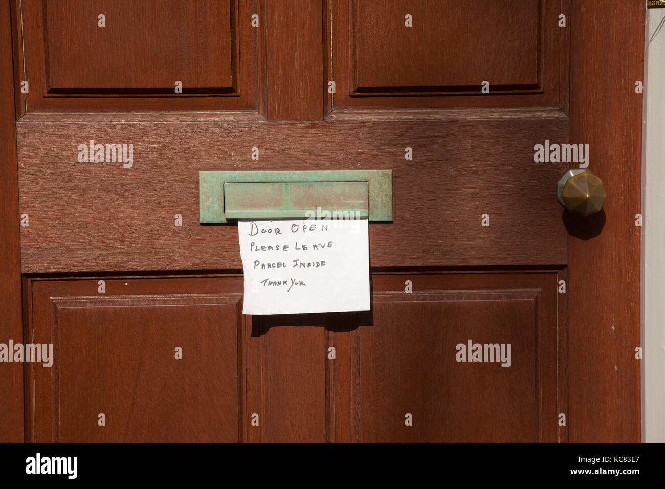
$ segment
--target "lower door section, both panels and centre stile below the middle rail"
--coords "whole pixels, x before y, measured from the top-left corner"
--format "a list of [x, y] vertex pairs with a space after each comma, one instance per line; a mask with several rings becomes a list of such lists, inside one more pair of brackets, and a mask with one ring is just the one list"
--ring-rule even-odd
[[[239, 276], [32, 281], [27, 337], [55, 355], [27, 375], [29, 439], [553, 442], [557, 276], [376, 273], [372, 313], [255, 317]], [[467, 340], [509, 367], [457, 361]]]

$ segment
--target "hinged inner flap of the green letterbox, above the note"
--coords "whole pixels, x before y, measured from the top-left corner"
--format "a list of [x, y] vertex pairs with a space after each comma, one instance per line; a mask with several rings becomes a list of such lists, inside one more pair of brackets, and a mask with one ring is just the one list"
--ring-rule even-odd
[[225, 182], [227, 219], [307, 218], [308, 211], [367, 217], [367, 182]]

